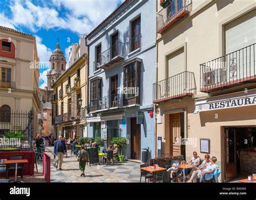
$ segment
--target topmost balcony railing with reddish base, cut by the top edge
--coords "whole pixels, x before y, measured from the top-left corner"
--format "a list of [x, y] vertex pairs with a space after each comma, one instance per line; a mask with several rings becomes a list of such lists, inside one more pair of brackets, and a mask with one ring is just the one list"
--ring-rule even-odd
[[167, 28], [176, 23], [178, 19], [190, 13], [191, 10], [192, 0], [170, 0], [170, 4], [158, 12], [158, 33], [164, 32]]

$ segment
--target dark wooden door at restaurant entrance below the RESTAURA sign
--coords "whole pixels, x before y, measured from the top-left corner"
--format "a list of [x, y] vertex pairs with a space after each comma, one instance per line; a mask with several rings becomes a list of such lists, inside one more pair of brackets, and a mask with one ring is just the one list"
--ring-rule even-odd
[[237, 177], [235, 128], [225, 128], [225, 181]]

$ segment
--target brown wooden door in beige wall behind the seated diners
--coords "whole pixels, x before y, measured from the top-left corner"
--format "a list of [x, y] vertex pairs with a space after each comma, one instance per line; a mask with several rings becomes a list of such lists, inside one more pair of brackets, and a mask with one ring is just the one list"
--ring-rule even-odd
[[180, 113], [174, 113], [170, 115], [170, 152], [173, 156], [181, 155], [181, 125], [180, 125]]

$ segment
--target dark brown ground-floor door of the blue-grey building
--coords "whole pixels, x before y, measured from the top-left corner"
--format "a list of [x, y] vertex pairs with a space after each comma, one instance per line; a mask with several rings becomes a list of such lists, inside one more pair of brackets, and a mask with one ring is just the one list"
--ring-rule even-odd
[[140, 159], [140, 124], [131, 118], [131, 158]]

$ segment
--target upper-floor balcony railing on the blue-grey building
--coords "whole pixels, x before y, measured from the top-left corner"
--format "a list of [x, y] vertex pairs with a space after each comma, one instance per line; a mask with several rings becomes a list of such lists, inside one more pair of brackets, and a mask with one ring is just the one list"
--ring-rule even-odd
[[105, 69], [113, 65], [120, 60], [123, 60], [126, 55], [125, 44], [123, 42], [117, 42], [112, 47], [102, 52], [99, 55], [99, 59], [93, 62], [95, 70], [99, 68]]

